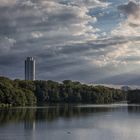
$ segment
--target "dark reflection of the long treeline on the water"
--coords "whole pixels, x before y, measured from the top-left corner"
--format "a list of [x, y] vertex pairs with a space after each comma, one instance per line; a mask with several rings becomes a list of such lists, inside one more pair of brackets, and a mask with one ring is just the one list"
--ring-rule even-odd
[[9, 122], [24, 122], [25, 127], [33, 127], [35, 121], [54, 121], [58, 118], [86, 117], [89, 113], [110, 111], [111, 108], [76, 107], [71, 104], [51, 105], [42, 108], [14, 108], [2, 109], [0, 112], [0, 125]]

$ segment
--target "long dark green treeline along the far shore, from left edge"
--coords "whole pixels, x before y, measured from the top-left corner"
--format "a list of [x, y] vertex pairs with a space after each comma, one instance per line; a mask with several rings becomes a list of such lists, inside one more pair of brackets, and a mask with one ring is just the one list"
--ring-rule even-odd
[[88, 86], [65, 80], [23, 81], [0, 77], [0, 104], [33, 105], [36, 103], [68, 102], [104, 104], [126, 100], [126, 93], [103, 86]]

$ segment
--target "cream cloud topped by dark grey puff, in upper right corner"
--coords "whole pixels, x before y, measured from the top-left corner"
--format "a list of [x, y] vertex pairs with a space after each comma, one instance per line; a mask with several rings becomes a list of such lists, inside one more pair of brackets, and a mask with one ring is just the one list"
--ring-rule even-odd
[[[118, 9], [127, 16], [118, 27], [112, 30], [114, 36], [137, 38], [140, 36], [140, 7], [135, 1], [118, 6]], [[133, 36], [132, 36], [133, 35]]]

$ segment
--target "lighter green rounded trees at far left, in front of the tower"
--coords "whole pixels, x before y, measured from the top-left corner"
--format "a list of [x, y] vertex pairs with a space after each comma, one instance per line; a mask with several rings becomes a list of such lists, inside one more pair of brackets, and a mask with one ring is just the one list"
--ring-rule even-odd
[[35, 86], [30, 81], [10, 80], [0, 77], [0, 104], [16, 106], [36, 104]]

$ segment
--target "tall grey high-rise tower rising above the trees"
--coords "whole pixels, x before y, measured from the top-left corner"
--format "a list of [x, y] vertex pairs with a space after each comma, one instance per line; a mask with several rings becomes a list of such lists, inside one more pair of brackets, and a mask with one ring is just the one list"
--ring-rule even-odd
[[25, 80], [35, 80], [35, 60], [27, 57], [25, 60]]

